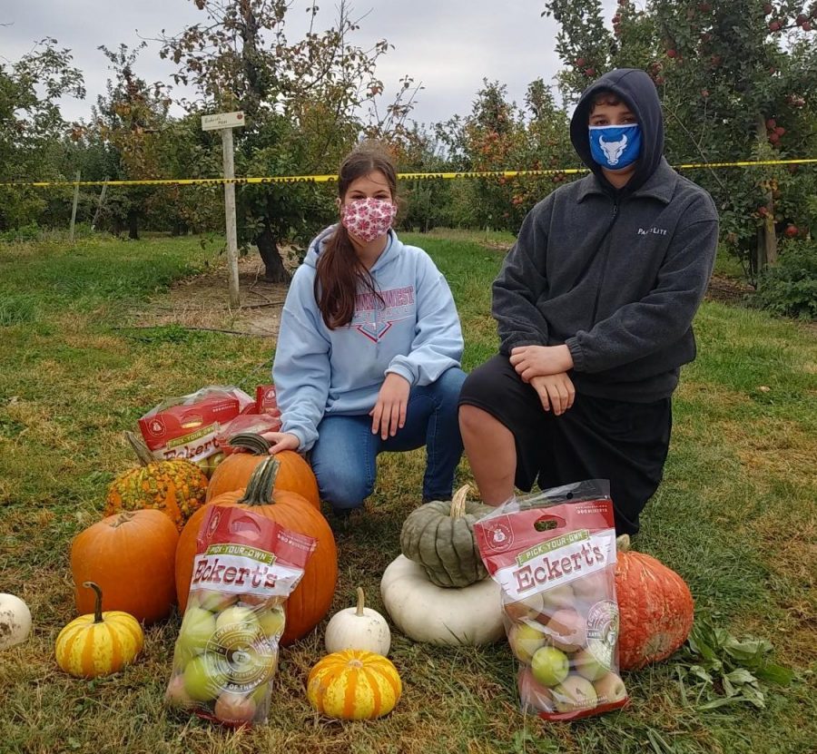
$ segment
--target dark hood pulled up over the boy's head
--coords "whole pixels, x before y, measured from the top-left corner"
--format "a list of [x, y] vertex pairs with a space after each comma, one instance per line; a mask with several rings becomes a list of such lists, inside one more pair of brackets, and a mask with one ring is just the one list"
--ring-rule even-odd
[[601, 166], [590, 154], [587, 130], [593, 99], [602, 91], [615, 93], [627, 103], [641, 126], [641, 154], [635, 163], [635, 173], [624, 189], [635, 191], [655, 172], [664, 157], [664, 114], [655, 83], [639, 68], [617, 68], [591, 83], [576, 105], [570, 121], [570, 140], [582, 162], [596, 174], [599, 181], [610, 186]]

